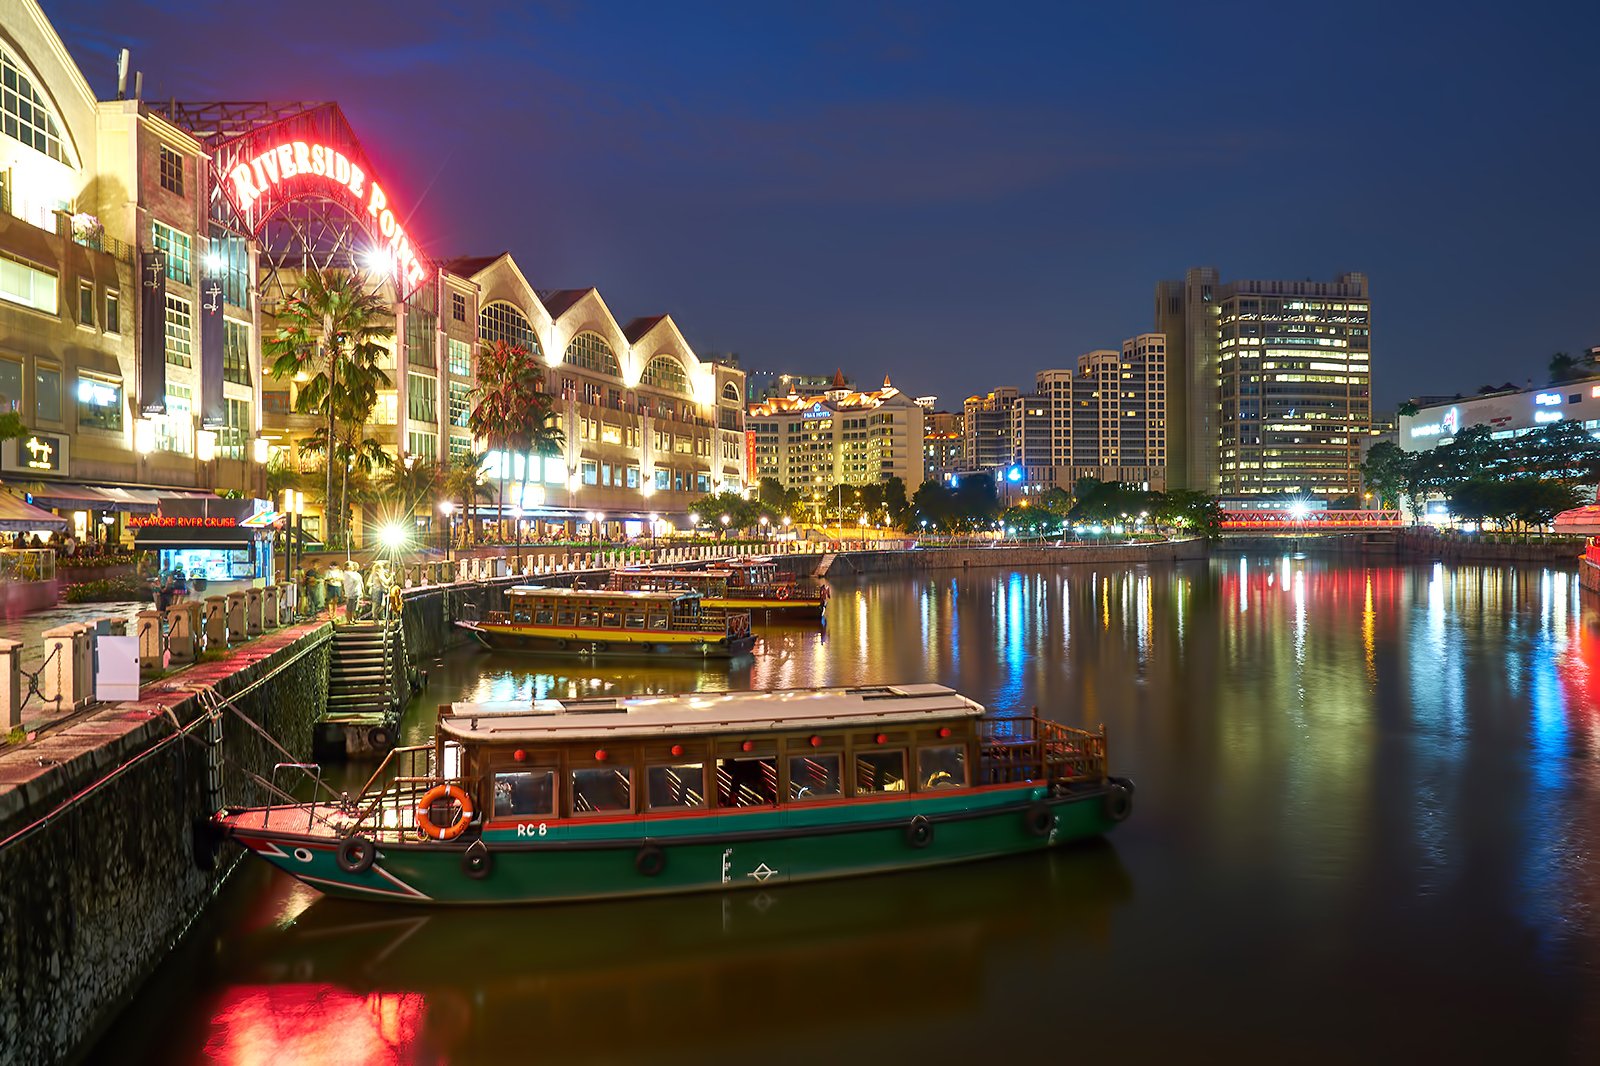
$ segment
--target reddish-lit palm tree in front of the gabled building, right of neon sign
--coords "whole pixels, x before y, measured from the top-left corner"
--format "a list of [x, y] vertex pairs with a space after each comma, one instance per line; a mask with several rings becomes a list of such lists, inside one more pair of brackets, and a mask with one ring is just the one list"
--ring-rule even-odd
[[[514, 451], [560, 455], [565, 434], [555, 426], [554, 399], [542, 389], [544, 371], [528, 349], [506, 341], [485, 344], [478, 354], [478, 384], [472, 391], [467, 429], [501, 453], [499, 525], [506, 535], [506, 475]], [[523, 483], [526, 483], [526, 461]]]

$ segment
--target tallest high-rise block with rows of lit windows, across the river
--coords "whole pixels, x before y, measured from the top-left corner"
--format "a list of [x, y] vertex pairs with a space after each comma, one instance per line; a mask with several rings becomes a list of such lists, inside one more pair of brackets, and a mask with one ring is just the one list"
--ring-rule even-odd
[[1371, 426], [1366, 275], [1222, 283], [1214, 267], [1197, 267], [1157, 283], [1155, 325], [1168, 335], [1168, 456], [1182, 487], [1360, 491]]

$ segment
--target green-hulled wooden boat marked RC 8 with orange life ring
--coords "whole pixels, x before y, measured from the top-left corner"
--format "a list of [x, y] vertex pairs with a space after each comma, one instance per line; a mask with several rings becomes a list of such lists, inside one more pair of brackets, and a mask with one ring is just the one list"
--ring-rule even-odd
[[965, 863], [1096, 837], [1131, 807], [1104, 727], [896, 685], [450, 704], [358, 795], [218, 821], [330, 895], [502, 904]]

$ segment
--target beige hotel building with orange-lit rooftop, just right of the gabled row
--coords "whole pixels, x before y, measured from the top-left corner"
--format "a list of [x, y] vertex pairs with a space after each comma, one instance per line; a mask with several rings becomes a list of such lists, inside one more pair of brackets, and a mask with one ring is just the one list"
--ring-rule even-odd
[[883, 379], [874, 392], [850, 387], [842, 373], [821, 394], [790, 392], [750, 405], [752, 479], [819, 491], [898, 477], [915, 493], [923, 477], [923, 408]]

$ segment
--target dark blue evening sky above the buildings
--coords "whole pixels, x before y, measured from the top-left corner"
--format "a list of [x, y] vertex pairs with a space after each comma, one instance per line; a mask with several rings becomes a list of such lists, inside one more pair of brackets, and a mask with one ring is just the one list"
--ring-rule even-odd
[[1150, 290], [1365, 271], [1378, 410], [1600, 344], [1595, 5], [90, 3], [91, 85], [338, 99], [437, 258], [942, 407]]

